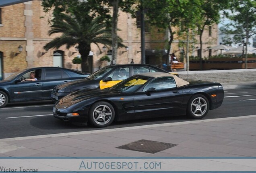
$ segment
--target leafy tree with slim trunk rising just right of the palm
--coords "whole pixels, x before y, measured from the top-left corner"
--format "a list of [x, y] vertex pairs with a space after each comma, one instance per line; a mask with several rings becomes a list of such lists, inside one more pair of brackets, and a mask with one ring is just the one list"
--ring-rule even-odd
[[88, 17], [99, 16], [101, 20], [107, 21], [108, 26], [112, 24], [112, 58], [116, 59], [118, 47], [124, 46], [119, 44], [118, 41], [118, 10], [128, 12], [134, 2], [136, 0], [43, 0], [43, 7], [45, 12], [53, 8], [54, 16], [58, 16], [61, 12], [74, 13], [78, 11], [77, 9], [80, 9], [79, 12], [86, 13]]

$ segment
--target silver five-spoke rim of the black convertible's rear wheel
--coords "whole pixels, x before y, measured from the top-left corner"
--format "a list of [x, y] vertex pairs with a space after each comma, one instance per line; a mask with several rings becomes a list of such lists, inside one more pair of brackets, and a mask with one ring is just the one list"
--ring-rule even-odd
[[190, 110], [194, 116], [201, 117], [208, 110], [208, 104], [204, 98], [196, 97], [191, 103]]

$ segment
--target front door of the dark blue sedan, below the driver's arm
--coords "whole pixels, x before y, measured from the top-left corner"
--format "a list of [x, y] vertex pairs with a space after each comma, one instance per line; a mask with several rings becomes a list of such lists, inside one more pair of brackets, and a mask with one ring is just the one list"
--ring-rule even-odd
[[15, 101], [33, 101], [42, 99], [42, 81], [21, 81], [21, 76], [29, 78], [29, 74], [35, 72], [36, 76], [41, 76], [42, 69], [29, 70], [16, 78], [11, 85], [11, 95]]

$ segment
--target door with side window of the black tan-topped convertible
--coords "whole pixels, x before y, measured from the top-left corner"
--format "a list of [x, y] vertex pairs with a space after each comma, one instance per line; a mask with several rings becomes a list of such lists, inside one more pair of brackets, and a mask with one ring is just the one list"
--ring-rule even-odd
[[[147, 92], [150, 88], [155, 91]], [[178, 115], [182, 99], [183, 91], [176, 87], [173, 77], [155, 78], [134, 95], [134, 111], [136, 117]]]

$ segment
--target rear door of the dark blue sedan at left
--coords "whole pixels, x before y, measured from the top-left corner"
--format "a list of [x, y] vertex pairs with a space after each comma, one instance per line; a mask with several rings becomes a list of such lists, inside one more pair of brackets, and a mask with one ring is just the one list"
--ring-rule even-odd
[[62, 84], [71, 80], [68, 74], [58, 68], [45, 68], [44, 73], [44, 81], [43, 81], [43, 99], [48, 100], [51, 99], [51, 92], [54, 87], [58, 84]]

